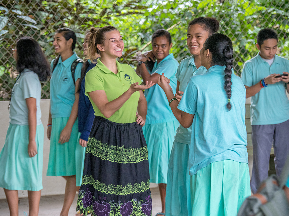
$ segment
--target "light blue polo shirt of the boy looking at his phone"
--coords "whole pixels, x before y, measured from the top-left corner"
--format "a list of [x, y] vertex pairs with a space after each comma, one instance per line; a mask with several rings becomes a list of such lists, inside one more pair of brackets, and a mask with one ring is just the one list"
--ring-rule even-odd
[[[289, 60], [275, 55], [271, 66], [260, 54], [246, 61], [241, 74], [245, 86], [253, 86], [272, 73], [289, 72]], [[286, 84], [269, 84], [251, 97], [251, 125], [279, 124], [289, 119]]]

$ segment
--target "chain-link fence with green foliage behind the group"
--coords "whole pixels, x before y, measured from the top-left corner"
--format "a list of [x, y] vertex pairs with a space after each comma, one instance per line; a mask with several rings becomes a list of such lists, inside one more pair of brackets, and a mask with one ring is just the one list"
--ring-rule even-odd
[[[188, 22], [212, 16], [220, 22], [219, 32], [234, 44], [234, 71], [240, 75], [246, 60], [257, 54], [258, 31], [273, 28], [279, 36], [279, 54], [288, 58], [288, 0], [1, 0], [0, 3], [0, 101], [8, 100], [15, 82], [11, 49], [21, 36], [33, 37], [51, 61], [55, 30], [69, 27], [77, 33], [76, 53], [83, 57], [83, 38], [91, 26], [116, 26], [125, 42], [120, 61], [136, 66], [139, 51], [151, 49], [151, 35], [168, 29], [171, 53], [180, 62], [190, 56], [186, 45]], [[42, 83], [42, 98], [49, 98], [49, 81]]]

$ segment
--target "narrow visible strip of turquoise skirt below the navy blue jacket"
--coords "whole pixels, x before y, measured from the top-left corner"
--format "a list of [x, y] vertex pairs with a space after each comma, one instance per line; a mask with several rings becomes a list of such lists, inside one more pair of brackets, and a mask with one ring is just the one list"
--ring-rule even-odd
[[76, 186], [78, 187], [81, 186], [81, 182], [82, 182], [84, 156], [85, 156], [85, 150], [86, 150], [86, 147], [82, 147], [81, 145], [79, 145], [80, 135], [81, 133], [78, 133], [78, 138], [77, 138], [78, 145], [76, 145], [76, 151], [75, 151]]

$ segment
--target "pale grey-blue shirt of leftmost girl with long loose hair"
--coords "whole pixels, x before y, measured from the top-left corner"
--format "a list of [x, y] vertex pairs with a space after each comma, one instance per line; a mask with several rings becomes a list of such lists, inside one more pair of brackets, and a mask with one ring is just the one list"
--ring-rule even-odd
[[33, 71], [24, 69], [17, 77], [12, 88], [9, 118], [10, 124], [28, 125], [28, 108], [25, 99], [36, 98], [37, 125], [41, 124], [41, 84], [38, 75]]

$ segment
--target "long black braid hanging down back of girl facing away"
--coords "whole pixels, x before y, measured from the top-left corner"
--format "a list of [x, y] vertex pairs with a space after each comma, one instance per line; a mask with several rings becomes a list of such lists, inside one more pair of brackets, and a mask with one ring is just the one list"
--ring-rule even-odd
[[228, 103], [227, 103], [227, 109], [230, 110], [231, 109], [231, 85], [232, 85], [232, 81], [231, 81], [231, 75], [232, 75], [232, 69], [233, 69], [233, 48], [229, 45], [227, 45], [223, 51], [223, 54], [226, 58], [226, 68], [224, 70], [225, 72], [225, 85], [224, 85], [224, 89], [226, 91], [227, 94], [227, 98], [228, 98]]

